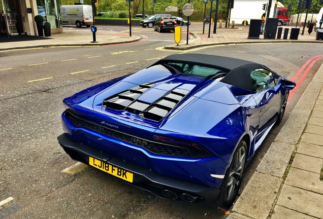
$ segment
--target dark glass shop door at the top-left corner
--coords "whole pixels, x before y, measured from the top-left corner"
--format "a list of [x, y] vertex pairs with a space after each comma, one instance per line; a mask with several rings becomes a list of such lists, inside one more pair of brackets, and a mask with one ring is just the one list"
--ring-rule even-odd
[[4, 0], [8, 35], [24, 34], [20, 0]]

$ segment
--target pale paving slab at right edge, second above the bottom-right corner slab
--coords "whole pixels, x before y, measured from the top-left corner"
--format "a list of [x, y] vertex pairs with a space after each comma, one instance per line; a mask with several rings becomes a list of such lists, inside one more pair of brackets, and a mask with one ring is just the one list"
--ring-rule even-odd
[[322, 163], [323, 159], [296, 154], [292, 163], [292, 167], [319, 174], [321, 172]]

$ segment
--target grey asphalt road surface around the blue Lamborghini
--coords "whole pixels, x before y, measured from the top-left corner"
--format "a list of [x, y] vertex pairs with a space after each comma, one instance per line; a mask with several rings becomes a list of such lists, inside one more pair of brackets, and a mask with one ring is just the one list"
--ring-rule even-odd
[[[64, 110], [61, 103], [64, 97], [179, 53], [163, 49], [173, 44], [168, 33], [144, 29], [151, 33], [132, 44], [0, 53], [0, 202], [13, 197], [0, 209], [0, 218], [7, 214], [5, 218], [226, 217], [211, 204], [160, 199], [93, 168], [75, 167], [76, 162], [57, 142], [56, 137], [62, 133], [60, 114]], [[321, 51], [323, 46], [319, 44], [285, 43], [212, 46], [187, 52], [260, 62], [291, 79], [306, 61], [321, 55]], [[309, 69], [287, 105], [284, 120], [321, 63], [318, 60]], [[270, 132], [252, 159], [245, 183], [281, 127], [282, 124]]]

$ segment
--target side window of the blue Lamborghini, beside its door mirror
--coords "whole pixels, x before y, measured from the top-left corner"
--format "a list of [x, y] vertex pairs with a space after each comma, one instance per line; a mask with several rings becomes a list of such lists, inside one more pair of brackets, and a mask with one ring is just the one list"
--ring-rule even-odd
[[277, 85], [278, 76], [267, 69], [260, 68], [251, 71], [252, 92], [261, 92]]

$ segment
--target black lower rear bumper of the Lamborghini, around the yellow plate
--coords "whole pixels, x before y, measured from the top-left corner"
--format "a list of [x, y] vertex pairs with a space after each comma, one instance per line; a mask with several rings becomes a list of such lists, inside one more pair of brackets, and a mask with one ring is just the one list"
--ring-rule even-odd
[[148, 168], [113, 157], [85, 144], [72, 141], [65, 134], [59, 135], [57, 139], [63, 150], [73, 160], [89, 165], [89, 156], [91, 156], [104, 163], [132, 172], [134, 174], [132, 183], [122, 181], [149, 191], [160, 198], [187, 202], [215, 201], [220, 191], [219, 188], [210, 188], [158, 174]]

